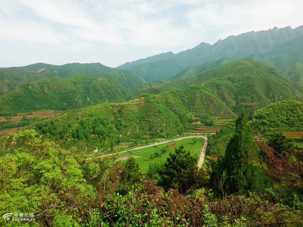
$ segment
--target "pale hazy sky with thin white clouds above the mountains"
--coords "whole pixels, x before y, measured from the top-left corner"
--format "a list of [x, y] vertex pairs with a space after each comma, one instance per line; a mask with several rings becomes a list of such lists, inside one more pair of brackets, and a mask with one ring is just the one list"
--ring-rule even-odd
[[117, 67], [229, 35], [303, 25], [302, 0], [0, 0], [0, 66]]

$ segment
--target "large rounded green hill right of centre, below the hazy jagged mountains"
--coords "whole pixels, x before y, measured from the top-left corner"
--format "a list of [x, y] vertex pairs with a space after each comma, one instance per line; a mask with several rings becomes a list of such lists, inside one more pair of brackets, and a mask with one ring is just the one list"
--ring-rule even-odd
[[303, 100], [303, 89], [289, 81], [275, 69], [251, 58], [243, 58], [223, 66], [211, 68], [193, 77], [171, 81], [160, 88], [165, 90], [198, 88], [217, 102], [224, 103], [229, 111], [239, 113], [245, 107], [248, 113], [273, 102]]

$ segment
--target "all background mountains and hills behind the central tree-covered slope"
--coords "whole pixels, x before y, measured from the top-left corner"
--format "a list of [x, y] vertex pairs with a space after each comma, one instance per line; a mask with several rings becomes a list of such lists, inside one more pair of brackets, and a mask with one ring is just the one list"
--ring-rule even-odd
[[303, 25], [251, 31], [117, 68], [100, 63], [1, 68], [0, 108], [70, 110], [147, 93], [174, 100], [165, 105], [184, 114], [235, 116], [242, 107], [253, 113], [276, 101], [302, 100], [302, 66]]

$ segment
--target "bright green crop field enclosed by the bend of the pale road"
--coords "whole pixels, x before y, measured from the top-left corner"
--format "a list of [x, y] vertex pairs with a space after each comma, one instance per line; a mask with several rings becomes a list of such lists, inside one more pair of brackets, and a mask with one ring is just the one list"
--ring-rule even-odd
[[[174, 144], [175, 143], [175, 144]], [[172, 146], [174, 144], [174, 146]], [[186, 150], [190, 150], [191, 153], [194, 153], [197, 156], [197, 159], [200, 157], [200, 152], [202, 150], [204, 139], [197, 138], [197, 142], [193, 142], [193, 138], [186, 138], [183, 140], [177, 140], [170, 143], [163, 143], [160, 145], [145, 147], [137, 150], [130, 150], [128, 152], [120, 153], [118, 155], [119, 158], [126, 157], [126, 156], [142, 156], [136, 158], [136, 162], [139, 164], [140, 170], [144, 173], [148, 170], [149, 163], [157, 163], [157, 162], [165, 162], [167, 157], [169, 156], [170, 151], [175, 151], [175, 147], [178, 148], [184, 144]], [[155, 153], [157, 150], [159, 151], [163, 146], [171, 145], [172, 147], [164, 153], [161, 157], [158, 158], [151, 158], [151, 154]], [[126, 160], [122, 160], [122, 163], [126, 163]]]

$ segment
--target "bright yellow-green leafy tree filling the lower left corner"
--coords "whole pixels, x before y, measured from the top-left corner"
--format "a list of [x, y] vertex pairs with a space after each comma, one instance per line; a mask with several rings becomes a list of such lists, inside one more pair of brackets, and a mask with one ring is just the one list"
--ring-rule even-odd
[[[70, 151], [51, 142], [41, 143], [34, 130], [15, 136], [22, 147], [14, 155], [0, 157], [1, 213], [31, 212], [42, 225], [56, 225], [66, 214], [66, 206], [76, 209], [85, 203], [92, 187], [85, 184], [80, 165]], [[0, 223], [5, 222], [2, 219]]]

